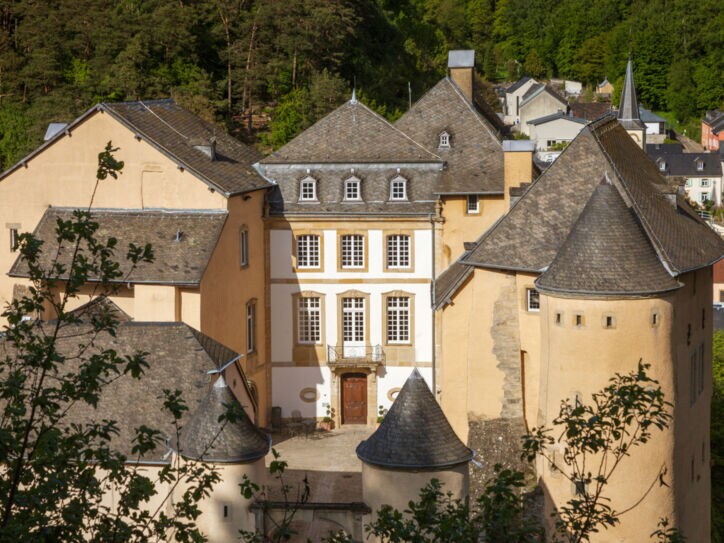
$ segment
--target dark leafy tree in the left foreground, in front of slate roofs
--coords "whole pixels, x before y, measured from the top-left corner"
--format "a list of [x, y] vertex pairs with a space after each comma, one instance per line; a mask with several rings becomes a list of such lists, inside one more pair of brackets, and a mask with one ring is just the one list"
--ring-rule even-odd
[[[96, 189], [121, 173], [123, 162], [114, 158], [115, 151], [109, 142], [99, 154]], [[31, 286], [2, 314], [8, 325], [0, 343], [0, 540], [202, 541], [195, 519], [199, 501], [218, 481], [214, 469], [176, 457], [160, 469], [158, 479], [179, 492], [173, 503], [157, 496], [165, 510], [151, 510], [147, 502], [156, 496], [158, 481], [133, 467], [137, 463], [126, 465], [129, 459], [114, 451], [117, 421], [83, 423], [72, 417], [74, 410], [92, 411], [115, 379], [141, 379], [148, 365], [145, 353], [120, 356], [95, 348], [99, 337], [115, 334], [113, 313], [101, 307], [81, 321], [68, 311], [89, 280], [97, 282], [100, 294], [112, 292], [112, 282], [122, 279], [114, 259], [120, 248], [113, 237], [98, 239], [91, 206], [92, 198], [87, 210], [58, 220], [53, 255], [45, 255], [47, 249], [32, 234], [20, 235], [18, 251]], [[69, 263], [61, 262], [61, 252], [70, 255]], [[126, 258], [133, 269], [152, 261], [153, 250], [130, 245]], [[28, 318], [47, 309], [57, 315], [54, 320]], [[178, 437], [187, 408], [178, 391], [165, 390], [163, 397]], [[158, 430], [136, 428], [135, 460], [162, 443]], [[104, 500], [110, 491], [113, 506]]]

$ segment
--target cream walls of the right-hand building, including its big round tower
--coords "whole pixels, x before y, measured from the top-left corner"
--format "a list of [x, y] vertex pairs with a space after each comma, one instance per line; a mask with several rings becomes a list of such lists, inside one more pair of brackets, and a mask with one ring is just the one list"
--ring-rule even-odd
[[[673, 403], [674, 418], [622, 463], [606, 494], [624, 510], [656, 484], [620, 526], [592, 541], [647, 540], [664, 516], [689, 540], [708, 541], [711, 268], [681, 276], [684, 287], [663, 297], [541, 295], [537, 311], [529, 309], [527, 296], [535, 279], [478, 268], [442, 310], [438, 383], [453, 429], [466, 441], [469, 421], [516, 413], [525, 414], [529, 428], [550, 425], [561, 399], [590, 400], [611, 376], [633, 371], [641, 359]], [[606, 317], [613, 318], [612, 327]], [[670, 487], [658, 484], [662, 469]], [[537, 472], [552, 497], [549, 509], [571, 497], [570, 483], [540, 460]]]

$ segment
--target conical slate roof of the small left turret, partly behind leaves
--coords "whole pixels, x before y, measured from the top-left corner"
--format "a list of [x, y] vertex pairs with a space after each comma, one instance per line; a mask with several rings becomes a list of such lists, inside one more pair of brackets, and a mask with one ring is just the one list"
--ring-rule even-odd
[[219, 422], [227, 406], [237, 400], [219, 377], [191, 420], [181, 430], [176, 449], [185, 458], [205, 462], [253, 462], [269, 452], [271, 438], [259, 430], [249, 417], [234, 422]]

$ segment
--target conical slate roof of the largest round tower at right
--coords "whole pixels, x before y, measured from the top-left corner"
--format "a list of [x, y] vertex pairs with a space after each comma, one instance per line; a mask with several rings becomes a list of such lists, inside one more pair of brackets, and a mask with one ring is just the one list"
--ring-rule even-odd
[[679, 288], [618, 190], [604, 178], [549, 268], [541, 291], [646, 295]]

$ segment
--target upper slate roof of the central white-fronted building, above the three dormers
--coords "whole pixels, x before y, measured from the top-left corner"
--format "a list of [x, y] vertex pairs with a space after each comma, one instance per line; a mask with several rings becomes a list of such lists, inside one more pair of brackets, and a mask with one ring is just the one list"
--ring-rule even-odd
[[350, 100], [260, 163], [365, 164], [440, 162], [363, 103]]

